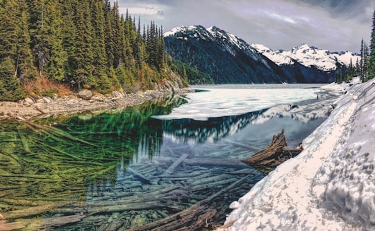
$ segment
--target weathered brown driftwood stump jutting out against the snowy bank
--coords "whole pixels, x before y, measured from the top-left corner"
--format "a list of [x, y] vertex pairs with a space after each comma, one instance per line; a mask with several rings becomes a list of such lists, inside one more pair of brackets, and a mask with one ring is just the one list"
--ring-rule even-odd
[[285, 149], [287, 146], [284, 129], [281, 133], [274, 135], [272, 142], [265, 147], [262, 151], [258, 151], [256, 154], [250, 158], [242, 160], [243, 163], [254, 167], [259, 172], [268, 174], [277, 165], [280, 165], [285, 160], [297, 156], [302, 150], [303, 147], [300, 144], [297, 149]]

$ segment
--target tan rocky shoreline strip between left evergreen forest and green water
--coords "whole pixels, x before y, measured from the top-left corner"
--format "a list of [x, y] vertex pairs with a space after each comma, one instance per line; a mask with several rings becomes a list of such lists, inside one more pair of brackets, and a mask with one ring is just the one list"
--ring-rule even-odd
[[33, 118], [47, 118], [52, 115], [70, 115], [84, 111], [108, 111], [131, 107], [152, 100], [160, 100], [172, 95], [183, 95], [192, 92], [190, 88], [180, 89], [177, 84], [170, 82], [158, 90], [148, 90], [126, 94], [114, 91], [108, 95], [93, 93], [85, 98], [76, 93], [58, 97], [29, 96], [19, 102], [0, 102], [0, 120], [16, 118], [17, 120], [31, 120]]

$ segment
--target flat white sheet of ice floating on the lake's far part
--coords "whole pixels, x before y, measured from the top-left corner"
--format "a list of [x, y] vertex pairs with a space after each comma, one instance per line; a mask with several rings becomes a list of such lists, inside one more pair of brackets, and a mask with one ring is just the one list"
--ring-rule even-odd
[[322, 89], [317, 84], [274, 85], [213, 85], [192, 86], [188, 104], [175, 108], [169, 115], [156, 115], [163, 120], [189, 118], [208, 120], [228, 115], [242, 115], [251, 111], [268, 109], [279, 104], [293, 104], [316, 100]]

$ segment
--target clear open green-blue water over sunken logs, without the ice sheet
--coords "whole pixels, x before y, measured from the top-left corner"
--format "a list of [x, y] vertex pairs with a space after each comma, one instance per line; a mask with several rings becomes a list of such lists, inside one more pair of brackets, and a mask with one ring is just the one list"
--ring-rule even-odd
[[[0, 213], [9, 221], [27, 218], [25, 224], [43, 217], [45, 229], [57, 228], [64, 216], [78, 220], [60, 230], [105, 230], [114, 221], [134, 227], [185, 210], [251, 176], [213, 201], [221, 207], [219, 221], [228, 203], [263, 177], [240, 163], [253, 150], [239, 144], [260, 149], [274, 133], [269, 127], [278, 126], [294, 127], [292, 139], [300, 139], [306, 123], [313, 121], [306, 126], [314, 129], [328, 112], [285, 104], [207, 121], [152, 118], [185, 102], [174, 98], [38, 124], [0, 122]], [[251, 138], [259, 140], [262, 132], [263, 141], [254, 145]]]

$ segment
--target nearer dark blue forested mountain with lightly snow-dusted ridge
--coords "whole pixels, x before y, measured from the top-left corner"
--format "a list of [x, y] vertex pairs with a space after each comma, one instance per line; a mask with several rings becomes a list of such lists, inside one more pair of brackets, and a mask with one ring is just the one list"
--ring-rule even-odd
[[167, 53], [207, 73], [215, 84], [297, 82], [242, 39], [215, 26], [185, 26], [165, 33]]

